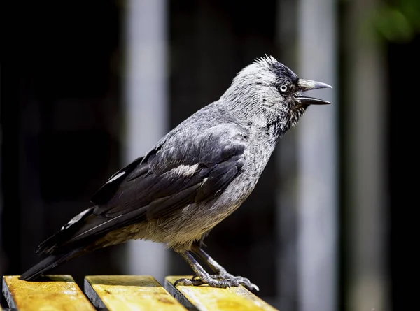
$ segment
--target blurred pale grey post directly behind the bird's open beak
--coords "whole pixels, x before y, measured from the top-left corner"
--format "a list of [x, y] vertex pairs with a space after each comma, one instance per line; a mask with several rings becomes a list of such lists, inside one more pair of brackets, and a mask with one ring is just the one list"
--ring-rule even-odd
[[309, 107], [297, 128], [298, 284], [300, 310], [336, 310], [337, 82], [335, 1], [300, 0], [299, 75], [333, 85], [311, 91], [332, 102]]

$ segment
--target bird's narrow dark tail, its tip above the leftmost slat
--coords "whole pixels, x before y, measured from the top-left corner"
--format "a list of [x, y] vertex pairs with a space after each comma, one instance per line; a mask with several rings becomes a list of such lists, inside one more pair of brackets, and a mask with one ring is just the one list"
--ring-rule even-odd
[[72, 259], [76, 256], [83, 254], [85, 250], [83, 247], [79, 247], [76, 249], [72, 249], [69, 252], [59, 253], [59, 254], [51, 254], [35, 266], [27, 270], [25, 273], [20, 275], [20, 280], [25, 281], [32, 281], [35, 280], [36, 277], [40, 276], [41, 274], [45, 273], [46, 271], [59, 266], [60, 264]]

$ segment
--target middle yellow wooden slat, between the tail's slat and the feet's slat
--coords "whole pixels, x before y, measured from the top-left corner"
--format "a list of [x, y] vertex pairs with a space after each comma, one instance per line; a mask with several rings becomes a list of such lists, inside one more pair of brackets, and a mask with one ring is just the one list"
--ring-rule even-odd
[[147, 275], [90, 275], [85, 294], [97, 308], [113, 310], [173, 310], [184, 308], [153, 277]]

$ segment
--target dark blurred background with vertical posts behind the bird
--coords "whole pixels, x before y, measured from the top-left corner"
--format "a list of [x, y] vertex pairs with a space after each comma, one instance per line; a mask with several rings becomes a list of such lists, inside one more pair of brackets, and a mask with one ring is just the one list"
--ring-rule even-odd
[[[36, 263], [38, 243], [109, 176], [267, 54], [333, 85], [316, 93], [332, 105], [309, 108], [281, 140], [253, 194], [207, 238], [209, 253], [282, 311], [398, 310], [419, 3], [2, 1], [0, 275]], [[82, 286], [85, 275], [163, 282], [191, 271], [136, 241], [52, 273]]]

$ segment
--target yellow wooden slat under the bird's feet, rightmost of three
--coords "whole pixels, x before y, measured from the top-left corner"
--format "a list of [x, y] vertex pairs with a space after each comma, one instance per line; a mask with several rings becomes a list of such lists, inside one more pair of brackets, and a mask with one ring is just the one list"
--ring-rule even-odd
[[196, 287], [176, 285], [174, 287], [176, 280], [191, 277], [190, 275], [178, 275], [167, 276], [165, 279], [165, 289], [188, 309], [196, 308], [200, 311], [276, 310], [242, 286], [231, 287], [230, 289], [218, 289], [207, 285]]

